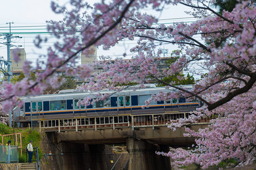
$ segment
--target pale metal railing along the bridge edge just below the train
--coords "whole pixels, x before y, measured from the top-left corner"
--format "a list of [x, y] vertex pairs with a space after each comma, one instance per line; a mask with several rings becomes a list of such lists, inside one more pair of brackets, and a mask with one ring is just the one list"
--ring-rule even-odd
[[[43, 131], [67, 131], [67, 130], [86, 130], [86, 129], [108, 129], [108, 128], [139, 128], [151, 126], [167, 126], [170, 120], [188, 117], [190, 113], [167, 112], [162, 114], [143, 114], [143, 115], [121, 115], [101, 116], [101, 117], [73, 117], [59, 118], [52, 120], [40, 120], [39, 128]], [[197, 124], [209, 124], [212, 117], [201, 118]]]

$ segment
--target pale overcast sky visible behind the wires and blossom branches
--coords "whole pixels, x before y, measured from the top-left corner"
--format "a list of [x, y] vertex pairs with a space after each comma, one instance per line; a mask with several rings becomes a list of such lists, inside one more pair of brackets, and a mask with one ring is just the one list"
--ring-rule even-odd
[[[44, 49], [39, 50], [35, 48], [33, 44], [33, 39], [37, 35], [36, 33], [31, 32], [46, 32], [46, 20], [61, 20], [63, 17], [57, 15], [51, 11], [51, 0], [9, 0], [2, 1], [0, 6], [0, 33], [9, 32], [9, 23], [11, 22], [11, 32], [14, 36], [21, 36], [22, 39], [13, 39], [13, 45], [22, 45], [21, 48], [24, 48], [27, 53], [27, 59], [30, 59], [32, 62], [35, 62], [38, 54], [45, 54], [46, 48], [49, 45], [52, 45], [55, 41], [54, 39], [49, 39], [48, 44], [44, 46]], [[68, 1], [57, 1], [65, 3]], [[96, 0], [89, 0], [89, 3], [93, 5]], [[191, 17], [185, 14], [185, 10], [189, 11], [190, 9], [184, 8], [184, 6], [173, 6], [164, 9], [164, 11], [159, 13], [152, 13], [157, 18], [160, 19], [160, 23], [171, 23], [171, 22], [192, 22], [195, 19], [187, 18]], [[184, 19], [182, 19], [184, 18]], [[22, 26], [22, 27], [20, 27]], [[32, 26], [32, 27], [25, 27]], [[39, 27], [40, 26], [40, 27]], [[21, 30], [22, 29], [22, 30]], [[22, 32], [22, 33], [16, 33]], [[30, 33], [24, 33], [30, 32]], [[47, 36], [46, 33], [41, 33], [41, 36]], [[1, 40], [3, 36], [0, 36], [0, 42], [6, 42]], [[123, 53], [127, 53], [128, 57], [129, 49], [135, 45], [136, 41], [123, 41], [116, 45], [114, 48], [109, 51], [104, 51], [101, 47], [97, 49], [97, 56], [107, 54], [108, 56], [118, 57], [122, 56]], [[172, 46], [162, 46], [163, 49], [167, 49], [168, 53], [171, 53], [172, 50], [177, 49], [175, 45]], [[5, 45], [0, 44], [0, 56], [3, 56], [7, 59], [7, 48]]]

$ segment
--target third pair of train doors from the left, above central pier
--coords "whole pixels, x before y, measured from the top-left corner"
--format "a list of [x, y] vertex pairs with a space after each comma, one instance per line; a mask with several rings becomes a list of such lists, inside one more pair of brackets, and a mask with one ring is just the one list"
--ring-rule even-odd
[[118, 114], [131, 114], [131, 96], [118, 96]]

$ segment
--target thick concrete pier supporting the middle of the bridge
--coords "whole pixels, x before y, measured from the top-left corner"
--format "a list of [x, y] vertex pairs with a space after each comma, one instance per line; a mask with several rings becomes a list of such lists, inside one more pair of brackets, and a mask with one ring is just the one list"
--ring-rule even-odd
[[127, 138], [126, 148], [129, 152], [129, 170], [171, 169], [170, 158], [155, 154], [156, 150], [168, 151], [168, 146], [152, 145], [146, 141]]

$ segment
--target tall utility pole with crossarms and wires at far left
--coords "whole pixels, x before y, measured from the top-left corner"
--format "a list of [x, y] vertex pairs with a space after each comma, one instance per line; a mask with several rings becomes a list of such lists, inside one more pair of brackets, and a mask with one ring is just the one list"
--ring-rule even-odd
[[[11, 48], [11, 46], [16, 46], [16, 45], [11, 44], [11, 39], [14, 38], [14, 37], [15, 38], [22, 38], [22, 37], [12, 36], [11, 35], [11, 24], [13, 24], [13, 23], [9, 22], [9, 23], [6, 23], [6, 24], [9, 24], [10, 32], [2, 34], [2, 36], [5, 36], [6, 42], [0, 42], [0, 44], [3, 44], [3, 45], [7, 46], [7, 62], [6, 62], [7, 78], [8, 78], [8, 83], [11, 83], [11, 75], [13, 75], [13, 73], [11, 73], [10, 48]], [[21, 46], [21, 45], [19, 45], [19, 46]], [[9, 112], [9, 127], [11, 127], [11, 118], [12, 118], [12, 114], [11, 114], [11, 112]]]

